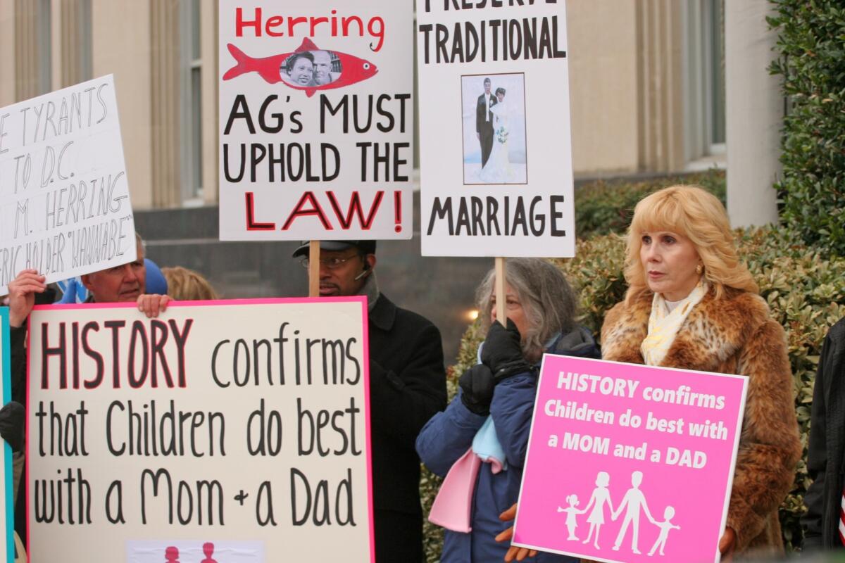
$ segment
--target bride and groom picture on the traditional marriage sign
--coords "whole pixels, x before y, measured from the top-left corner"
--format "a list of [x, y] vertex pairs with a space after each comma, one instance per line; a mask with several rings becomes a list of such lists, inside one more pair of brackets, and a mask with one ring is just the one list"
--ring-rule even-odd
[[461, 77], [464, 184], [526, 184], [525, 74]]

